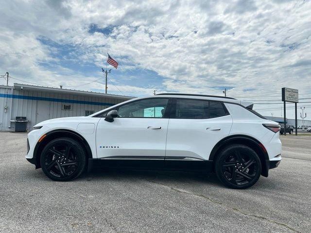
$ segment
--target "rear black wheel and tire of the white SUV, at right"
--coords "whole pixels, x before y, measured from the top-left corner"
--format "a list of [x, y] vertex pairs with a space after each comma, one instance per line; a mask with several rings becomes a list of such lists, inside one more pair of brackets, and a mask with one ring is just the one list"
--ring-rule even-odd
[[225, 186], [245, 189], [258, 181], [261, 162], [257, 153], [250, 147], [233, 144], [216, 157], [215, 172]]

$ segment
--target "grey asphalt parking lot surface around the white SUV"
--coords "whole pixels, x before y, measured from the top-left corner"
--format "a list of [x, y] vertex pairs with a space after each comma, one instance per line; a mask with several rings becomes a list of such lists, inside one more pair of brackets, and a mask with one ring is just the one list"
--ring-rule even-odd
[[311, 135], [281, 136], [283, 161], [247, 190], [215, 175], [96, 170], [53, 182], [0, 133], [0, 232], [311, 232]]

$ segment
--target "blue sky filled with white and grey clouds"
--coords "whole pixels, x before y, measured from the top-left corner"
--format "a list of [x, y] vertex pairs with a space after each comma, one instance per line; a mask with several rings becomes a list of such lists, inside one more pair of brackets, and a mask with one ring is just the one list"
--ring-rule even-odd
[[10, 84], [103, 92], [109, 52], [119, 62], [108, 66], [111, 94], [227, 88], [280, 116], [282, 104], [266, 103], [280, 103], [286, 86], [310, 102], [298, 106], [311, 119], [310, 0], [9, 0], [0, 15], [0, 74], [9, 71]]

